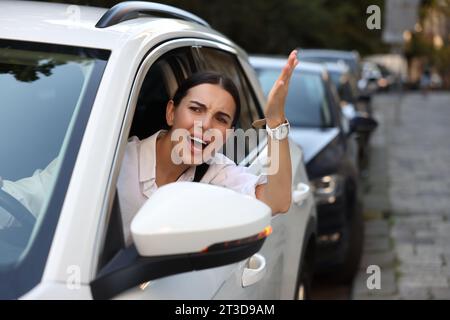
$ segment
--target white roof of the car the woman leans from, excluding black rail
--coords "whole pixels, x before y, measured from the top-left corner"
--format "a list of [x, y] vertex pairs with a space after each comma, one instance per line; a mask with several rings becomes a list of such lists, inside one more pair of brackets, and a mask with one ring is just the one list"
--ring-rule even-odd
[[138, 37], [161, 38], [163, 34], [183, 32], [184, 36], [217, 40], [243, 52], [219, 32], [176, 18], [140, 16], [107, 28], [96, 28], [108, 9], [11, 0], [2, 0], [0, 7], [0, 39], [114, 50]]

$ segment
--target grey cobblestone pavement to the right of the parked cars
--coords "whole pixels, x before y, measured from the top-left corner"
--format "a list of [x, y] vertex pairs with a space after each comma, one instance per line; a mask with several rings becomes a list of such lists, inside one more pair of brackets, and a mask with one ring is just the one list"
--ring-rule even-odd
[[[366, 239], [352, 299], [450, 299], [450, 94], [374, 98]], [[369, 265], [381, 289], [368, 289]]]

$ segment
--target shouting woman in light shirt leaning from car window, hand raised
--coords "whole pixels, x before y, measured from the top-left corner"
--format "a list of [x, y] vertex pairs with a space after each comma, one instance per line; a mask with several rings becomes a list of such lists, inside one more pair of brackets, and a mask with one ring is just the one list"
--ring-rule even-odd
[[[276, 167], [279, 170], [256, 176], [246, 167], [236, 166], [231, 159], [215, 152], [232, 132], [230, 129], [234, 128], [240, 112], [237, 88], [230, 79], [217, 73], [196, 73], [179, 86], [166, 107], [169, 130], [160, 130], [143, 140], [130, 138], [117, 184], [127, 242], [130, 241], [131, 220], [146, 199], [165, 184], [194, 181], [196, 168], [203, 162], [208, 163], [208, 167], [201, 182], [252, 195], [266, 203], [274, 214], [289, 210], [292, 172], [287, 139], [289, 123], [285, 118], [284, 105], [289, 80], [298, 64], [296, 56], [295, 50], [289, 55], [269, 93], [265, 119], [259, 121], [268, 127], [268, 157], [278, 160]], [[177, 148], [184, 152], [174, 152]], [[272, 157], [272, 152], [276, 152], [277, 156]], [[51, 168], [52, 165], [49, 165], [47, 169]], [[39, 175], [48, 175], [47, 169], [39, 171], [33, 176], [34, 179], [39, 183], [45, 182], [46, 179], [41, 179]], [[30, 183], [29, 179], [33, 177], [26, 178], [27, 185], [35, 188], [36, 192], [22, 192], [23, 183], [20, 181], [5, 181], [4, 191], [25, 206], [31, 203], [26, 198], [32, 197], [33, 206], [39, 207], [36, 204], [39, 201], [35, 198], [45, 185]]]

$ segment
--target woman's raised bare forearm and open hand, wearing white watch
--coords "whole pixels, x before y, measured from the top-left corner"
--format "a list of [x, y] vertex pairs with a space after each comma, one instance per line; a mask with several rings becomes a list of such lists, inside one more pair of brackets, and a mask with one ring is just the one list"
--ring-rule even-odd
[[[289, 81], [297, 64], [297, 51], [294, 50], [289, 55], [286, 65], [269, 93], [264, 114], [266, 125], [271, 129], [286, 121], [284, 106]], [[271, 161], [278, 160], [275, 163], [277, 170], [267, 176], [266, 184], [256, 187], [256, 197], [272, 209], [272, 214], [285, 213], [291, 206], [292, 197], [292, 166], [289, 141], [287, 138], [275, 140], [268, 137], [268, 139], [270, 139], [268, 143], [268, 158]], [[273, 156], [272, 152], [277, 152], [278, 155]], [[274, 163], [271, 163], [271, 166], [273, 165]]]

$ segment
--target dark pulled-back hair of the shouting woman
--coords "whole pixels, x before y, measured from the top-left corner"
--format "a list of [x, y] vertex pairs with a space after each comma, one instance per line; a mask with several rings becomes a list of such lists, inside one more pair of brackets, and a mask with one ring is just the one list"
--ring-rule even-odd
[[219, 85], [233, 97], [234, 103], [236, 105], [236, 110], [231, 126], [234, 127], [239, 120], [239, 115], [241, 113], [241, 100], [239, 98], [239, 90], [237, 89], [233, 80], [220, 73], [212, 71], [201, 71], [192, 74], [190, 77], [184, 80], [173, 96], [172, 100], [175, 107], [178, 107], [181, 100], [183, 100], [183, 98], [187, 95], [189, 89], [205, 83]]

